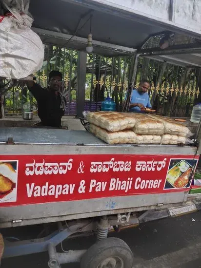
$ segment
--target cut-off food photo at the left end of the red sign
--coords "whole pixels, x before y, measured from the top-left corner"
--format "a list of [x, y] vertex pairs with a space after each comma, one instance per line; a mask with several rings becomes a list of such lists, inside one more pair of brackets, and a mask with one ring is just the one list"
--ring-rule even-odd
[[0, 161], [0, 203], [17, 201], [18, 160]]

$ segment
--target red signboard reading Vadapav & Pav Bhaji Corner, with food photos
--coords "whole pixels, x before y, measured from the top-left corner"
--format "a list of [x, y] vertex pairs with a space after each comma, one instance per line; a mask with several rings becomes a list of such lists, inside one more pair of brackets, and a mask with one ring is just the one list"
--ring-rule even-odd
[[0, 206], [188, 191], [193, 155], [0, 156]]

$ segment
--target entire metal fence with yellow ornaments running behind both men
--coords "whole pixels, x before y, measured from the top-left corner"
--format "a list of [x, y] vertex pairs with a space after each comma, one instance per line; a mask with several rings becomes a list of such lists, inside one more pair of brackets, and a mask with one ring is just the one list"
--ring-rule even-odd
[[[44, 45], [45, 57], [41, 70], [34, 74], [42, 87], [48, 83], [51, 70], [63, 74], [62, 93], [67, 100], [66, 115], [77, 114], [79, 52], [56, 46]], [[112, 97], [117, 110], [122, 103], [128, 85], [132, 81], [134, 57], [102, 57], [87, 55], [85, 111], [99, 111], [105, 97]], [[151, 82], [149, 95], [153, 109], [160, 115], [189, 117], [193, 105], [201, 98], [199, 68], [183, 68], [167, 62], [140, 57], [136, 85], [142, 78]], [[37, 102], [26, 87], [9, 90], [4, 101], [5, 114], [21, 114], [23, 110], [37, 114]]]

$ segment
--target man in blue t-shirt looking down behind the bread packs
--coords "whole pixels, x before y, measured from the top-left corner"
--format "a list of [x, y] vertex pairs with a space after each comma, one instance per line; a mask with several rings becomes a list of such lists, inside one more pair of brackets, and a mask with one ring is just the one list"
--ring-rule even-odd
[[139, 88], [131, 93], [129, 112], [144, 113], [145, 108], [151, 108], [150, 98], [147, 93], [150, 87], [148, 80], [141, 80]]

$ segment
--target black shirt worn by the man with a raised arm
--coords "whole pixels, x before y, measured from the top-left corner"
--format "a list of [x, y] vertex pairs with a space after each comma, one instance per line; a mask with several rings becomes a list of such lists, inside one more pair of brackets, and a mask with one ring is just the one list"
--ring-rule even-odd
[[[64, 110], [60, 108], [60, 95], [56, 95], [55, 91], [42, 88], [34, 83], [34, 86], [29, 88], [29, 91], [36, 98], [38, 103], [38, 115], [43, 126], [61, 127], [61, 117], [64, 115]], [[66, 100], [63, 97], [65, 103]]]

